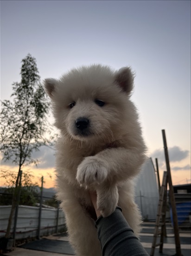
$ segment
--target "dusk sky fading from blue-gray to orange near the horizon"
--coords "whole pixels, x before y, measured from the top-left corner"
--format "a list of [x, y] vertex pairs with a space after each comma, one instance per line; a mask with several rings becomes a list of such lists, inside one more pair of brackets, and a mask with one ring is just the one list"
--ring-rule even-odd
[[[166, 131], [173, 184], [191, 182], [191, 2], [1, 1], [0, 99], [20, 81], [21, 60], [32, 54], [41, 79], [71, 67], [101, 63], [136, 72], [132, 100], [140, 113], [148, 156], [166, 170]], [[53, 122], [53, 120], [51, 119]], [[42, 148], [36, 176], [53, 173], [54, 151]], [[4, 169], [18, 170], [11, 162]], [[48, 180], [48, 175], [47, 175]], [[52, 182], [46, 183], [47, 187]]]

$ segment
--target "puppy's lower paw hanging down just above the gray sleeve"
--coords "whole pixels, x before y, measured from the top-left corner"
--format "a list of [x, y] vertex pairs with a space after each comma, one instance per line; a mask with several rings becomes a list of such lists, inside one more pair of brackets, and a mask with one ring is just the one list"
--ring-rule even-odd
[[97, 189], [97, 208], [103, 217], [111, 215], [117, 206], [119, 194], [117, 186]]

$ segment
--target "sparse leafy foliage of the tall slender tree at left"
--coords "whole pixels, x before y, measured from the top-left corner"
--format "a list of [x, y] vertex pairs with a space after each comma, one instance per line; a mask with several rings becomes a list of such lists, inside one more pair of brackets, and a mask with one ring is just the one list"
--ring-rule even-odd
[[22, 60], [21, 81], [13, 83], [13, 101], [2, 101], [0, 150], [5, 161], [12, 160], [19, 170], [38, 163], [32, 151], [46, 145], [45, 133], [49, 101], [40, 83], [36, 59], [28, 54]]

